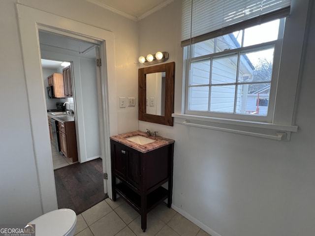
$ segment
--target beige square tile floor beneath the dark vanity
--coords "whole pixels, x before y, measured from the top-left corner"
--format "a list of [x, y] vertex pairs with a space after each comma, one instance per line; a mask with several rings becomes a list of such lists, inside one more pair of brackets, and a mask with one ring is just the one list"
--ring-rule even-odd
[[210, 236], [175, 210], [161, 203], [147, 215], [147, 230], [141, 216], [123, 199], [109, 198], [77, 215], [76, 236]]

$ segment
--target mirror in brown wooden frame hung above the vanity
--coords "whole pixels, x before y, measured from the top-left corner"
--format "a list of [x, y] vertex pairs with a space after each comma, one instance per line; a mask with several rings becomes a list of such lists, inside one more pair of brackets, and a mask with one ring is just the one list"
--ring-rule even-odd
[[139, 120], [173, 126], [175, 62], [138, 73]]

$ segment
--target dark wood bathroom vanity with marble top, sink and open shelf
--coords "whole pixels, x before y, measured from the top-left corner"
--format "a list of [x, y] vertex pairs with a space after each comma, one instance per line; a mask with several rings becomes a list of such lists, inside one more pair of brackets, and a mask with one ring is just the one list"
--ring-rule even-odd
[[174, 142], [141, 131], [110, 137], [113, 201], [119, 194], [141, 215], [143, 232], [150, 210], [165, 199], [171, 207]]

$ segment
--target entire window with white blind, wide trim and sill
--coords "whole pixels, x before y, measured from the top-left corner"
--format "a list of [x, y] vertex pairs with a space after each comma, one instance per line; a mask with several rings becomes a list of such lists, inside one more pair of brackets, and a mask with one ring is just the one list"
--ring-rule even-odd
[[289, 140], [309, 4], [183, 0], [185, 86], [175, 122]]

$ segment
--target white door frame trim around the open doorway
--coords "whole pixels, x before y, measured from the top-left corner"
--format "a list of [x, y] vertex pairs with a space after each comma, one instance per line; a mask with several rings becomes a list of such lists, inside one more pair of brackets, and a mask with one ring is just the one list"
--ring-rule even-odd
[[103, 172], [108, 174], [108, 181], [104, 181], [104, 187], [106, 188], [107, 185], [107, 194], [111, 197], [109, 137], [118, 132], [117, 108], [114, 102], [116, 98], [114, 33], [19, 3], [16, 4], [16, 7], [42, 213], [57, 209], [58, 206], [40, 61], [38, 29], [41, 27], [51, 32], [57, 30], [59, 34], [71, 35], [76, 38], [91, 38], [101, 42], [100, 58], [103, 65], [100, 68], [99, 119], [103, 126], [100, 130], [103, 140], [101, 139], [100, 145], [101, 152], [104, 152], [102, 153], [104, 156]]

